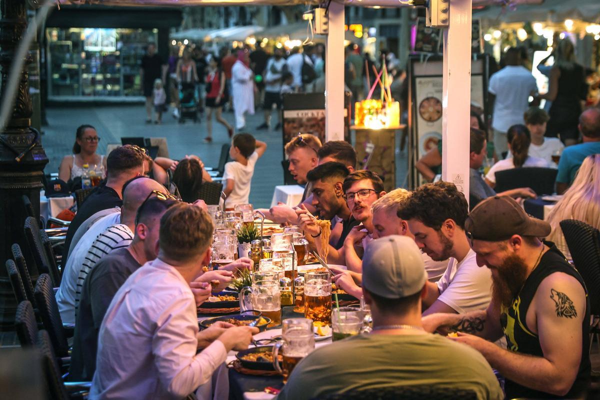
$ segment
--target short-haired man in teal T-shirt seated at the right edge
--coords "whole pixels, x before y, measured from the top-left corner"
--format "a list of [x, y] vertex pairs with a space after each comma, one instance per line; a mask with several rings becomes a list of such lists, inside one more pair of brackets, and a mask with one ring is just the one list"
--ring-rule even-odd
[[600, 153], [600, 109], [590, 108], [581, 113], [578, 127], [583, 143], [568, 146], [560, 155], [559, 172], [556, 175], [558, 194], [565, 193], [573, 183], [575, 174], [587, 156]]

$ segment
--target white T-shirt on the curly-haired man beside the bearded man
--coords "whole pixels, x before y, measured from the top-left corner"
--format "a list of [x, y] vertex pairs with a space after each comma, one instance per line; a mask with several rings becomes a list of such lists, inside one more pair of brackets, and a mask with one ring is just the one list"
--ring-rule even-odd
[[458, 314], [487, 308], [491, 300], [491, 272], [479, 267], [476, 254], [469, 249], [460, 263], [450, 258], [446, 272], [437, 281], [440, 302], [452, 307]]

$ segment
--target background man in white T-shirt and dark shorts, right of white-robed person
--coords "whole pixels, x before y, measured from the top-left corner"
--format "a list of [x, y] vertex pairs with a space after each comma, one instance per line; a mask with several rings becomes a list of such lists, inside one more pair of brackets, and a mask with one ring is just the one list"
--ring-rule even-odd
[[271, 128], [271, 112], [273, 105], [277, 107], [277, 126], [275, 130], [281, 128], [281, 78], [284, 73], [289, 72], [286, 59], [283, 58], [283, 49], [275, 47], [272, 58], [266, 64], [265, 68], [265, 101], [263, 109], [265, 110], [265, 122], [260, 125], [259, 130]]

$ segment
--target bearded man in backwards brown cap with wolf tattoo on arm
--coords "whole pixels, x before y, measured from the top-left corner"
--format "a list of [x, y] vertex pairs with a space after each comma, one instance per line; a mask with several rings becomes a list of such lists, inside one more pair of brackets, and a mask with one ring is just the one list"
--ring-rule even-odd
[[[473, 209], [465, 230], [477, 263], [491, 270], [490, 306], [428, 315], [425, 329], [458, 330], [454, 340], [481, 351], [506, 378], [506, 398], [579, 398], [590, 378], [590, 305], [577, 270], [539, 239], [550, 225], [495, 196]], [[490, 342], [502, 334], [507, 350]]]

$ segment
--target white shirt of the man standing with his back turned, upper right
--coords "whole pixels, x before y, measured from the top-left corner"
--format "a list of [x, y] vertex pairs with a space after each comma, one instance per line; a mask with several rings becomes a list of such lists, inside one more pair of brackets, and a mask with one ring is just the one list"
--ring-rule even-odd
[[538, 85], [527, 68], [506, 65], [491, 76], [489, 91], [496, 95], [492, 128], [506, 132], [512, 125], [523, 124], [523, 114], [529, 107], [529, 95], [538, 92]]

